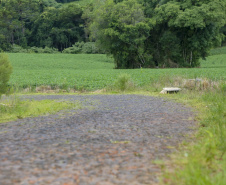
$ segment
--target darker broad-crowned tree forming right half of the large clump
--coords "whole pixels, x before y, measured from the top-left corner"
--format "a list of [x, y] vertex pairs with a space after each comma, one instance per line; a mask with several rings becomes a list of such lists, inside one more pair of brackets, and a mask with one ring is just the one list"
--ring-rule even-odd
[[195, 67], [221, 43], [226, 3], [222, 0], [165, 0], [154, 8], [156, 22], [148, 42], [161, 66]]

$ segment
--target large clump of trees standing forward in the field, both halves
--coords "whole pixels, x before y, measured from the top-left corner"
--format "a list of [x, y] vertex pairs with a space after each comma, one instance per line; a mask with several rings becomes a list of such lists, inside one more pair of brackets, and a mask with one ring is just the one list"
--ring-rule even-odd
[[224, 0], [106, 0], [90, 27], [117, 68], [196, 67], [222, 42]]

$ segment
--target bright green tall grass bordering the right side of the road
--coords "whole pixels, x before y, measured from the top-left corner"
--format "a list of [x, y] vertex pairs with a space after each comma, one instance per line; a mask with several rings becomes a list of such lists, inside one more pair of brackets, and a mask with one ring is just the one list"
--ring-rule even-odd
[[[226, 182], [226, 91], [189, 91], [176, 95], [199, 112], [199, 130], [193, 142], [182, 145], [168, 164], [162, 184], [224, 185]], [[172, 95], [175, 96], [175, 95]], [[173, 172], [172, 172], [173, 169]]]

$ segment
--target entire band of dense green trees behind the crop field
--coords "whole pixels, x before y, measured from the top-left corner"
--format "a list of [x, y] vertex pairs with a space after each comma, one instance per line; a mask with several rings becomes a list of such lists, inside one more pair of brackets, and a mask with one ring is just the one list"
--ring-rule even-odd
[[0, 50], [108, 53], [116, 68], [196, 67], [225, 43], [225, 0], [78, 2], [0, 0]]

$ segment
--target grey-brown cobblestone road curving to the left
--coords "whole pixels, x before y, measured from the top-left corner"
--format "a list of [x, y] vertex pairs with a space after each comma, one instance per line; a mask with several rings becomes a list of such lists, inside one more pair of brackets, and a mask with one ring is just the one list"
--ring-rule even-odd
[[0, 124], [1, 185], [155, 184], [194, 126], [191, 109], [141, 95], [46, 95], [80, 110]]

